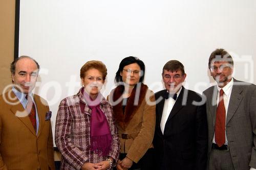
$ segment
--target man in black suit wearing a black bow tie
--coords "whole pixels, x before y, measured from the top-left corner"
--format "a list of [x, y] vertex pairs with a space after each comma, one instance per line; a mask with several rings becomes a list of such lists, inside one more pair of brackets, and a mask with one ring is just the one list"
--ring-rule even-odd
[[165, 90], [155, 94], [154, 136], [156, 169], [205, 169], [207, 161], [207, 120], [200, 94], [182, 86], [184, 66], [168, 61], [162, 72]]

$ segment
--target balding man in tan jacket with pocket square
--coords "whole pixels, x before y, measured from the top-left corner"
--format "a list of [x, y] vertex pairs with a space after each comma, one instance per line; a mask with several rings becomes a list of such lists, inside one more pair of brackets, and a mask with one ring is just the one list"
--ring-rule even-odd
[[51, 111], [31, 92], [38, 70], [27, 56], [11, 63], [13, 86], [0, 95], [0, 169], [54, 169]]

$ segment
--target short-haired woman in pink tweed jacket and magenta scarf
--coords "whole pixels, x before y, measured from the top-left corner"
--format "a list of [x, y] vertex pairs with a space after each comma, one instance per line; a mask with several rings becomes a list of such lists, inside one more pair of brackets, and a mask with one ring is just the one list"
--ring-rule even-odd
[[100, 94], [106, 74], [102, 62], [87, 62], [80, 69], [83, 87], [59, 104], [55, 142], [62, 155], [60, 169], [105, 170], [118, 160], [113, 109]]

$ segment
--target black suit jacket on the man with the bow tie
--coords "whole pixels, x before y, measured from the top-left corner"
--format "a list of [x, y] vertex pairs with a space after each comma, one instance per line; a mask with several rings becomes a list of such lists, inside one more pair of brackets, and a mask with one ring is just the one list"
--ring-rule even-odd
[[[155, 94], [156, 101], [166, 90]], [[154, 148], [156, 169], [205, 169], [207, 161], [207, 120], [201, 95], [182, 87], [162, 134], [160, 123], [164, 99], [156, 105]], [[183, 102], [183, 104], [182, 104]]]

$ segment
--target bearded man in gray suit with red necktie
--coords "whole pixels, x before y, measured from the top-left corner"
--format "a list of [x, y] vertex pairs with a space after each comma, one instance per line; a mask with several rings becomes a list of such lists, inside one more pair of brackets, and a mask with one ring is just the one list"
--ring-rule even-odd
[[206, 89], [208, 169], [256, 168], [256, 86], [232, 78], [233, 60], [223, 49], [209, 57], [217, 85]]

